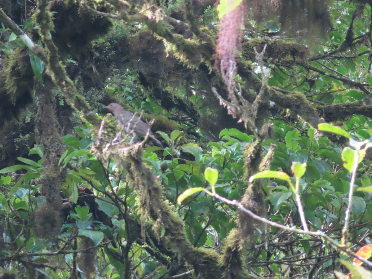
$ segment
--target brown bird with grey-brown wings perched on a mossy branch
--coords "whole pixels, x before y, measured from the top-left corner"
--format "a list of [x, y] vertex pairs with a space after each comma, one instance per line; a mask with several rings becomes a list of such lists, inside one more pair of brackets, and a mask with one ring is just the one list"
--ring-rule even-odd
[[[124, 109], [121, 105], [118, 103], [110, 103], [108, 106], [104, 106], [104, 108], [110, 110], [116, 118], [116, 121], [118, 122], [119, 128], [123, 130], [124, 132], [131, 133], [133, 135], [132, 139], [129, 141], [131, 143], [134, 138], [136, 137], [136, 134], [140, 135], [146, 135], [148, 130], [148, 125], [143, 122], [139, 116], [131, 113], [129, 110]], [[157, 145], [159, 145], [161, 148], [164, 148], [160, 141], [155, 138], [153, 132], [149, 132], [149, 137], [152, 138]]]

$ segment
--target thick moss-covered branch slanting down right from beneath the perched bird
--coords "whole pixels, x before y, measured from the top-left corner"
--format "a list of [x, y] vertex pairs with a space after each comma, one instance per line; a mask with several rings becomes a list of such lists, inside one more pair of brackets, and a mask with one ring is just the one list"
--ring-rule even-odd
[[[103, 127], [102, 131], [105, 130]], [[171, 248], [179, 259], [193, 266], [201, 278], [221, 278], [217, 266], [218, 254], [195, 248], [189, 242], [185, 224], [171, 206], [163, 201], [163, 188], [142, 161], [140, 144], [110, 144], [103, 134], [98, 135], [92, 153], [102, 161], [113, 158], [128, 173], [129, 185], [137, 190], [138, 211], [142, 222], [151, 219], [160, 243]]]

